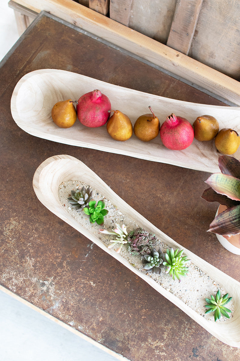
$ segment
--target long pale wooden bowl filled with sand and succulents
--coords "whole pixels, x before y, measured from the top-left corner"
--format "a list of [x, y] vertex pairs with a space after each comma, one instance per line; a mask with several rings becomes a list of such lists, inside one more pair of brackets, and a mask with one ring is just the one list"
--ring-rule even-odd
[[[82, 188], [83, 185], [85, 188]], [[76, 191], [76, 186], [80, 191]], [[96, 201], [90, 200], [91, 191], [88, 187], [93, 190], [93, 194], [99, 195], [99, 200], [97, 197]], [[91, 169], [72, 156], [58, 155], [46, 159], [35, 172], [33, 188], [41, 203], [56, 216], [142, 278], [216, 338], [233, 347], [240, 347], [240, 283], [237, 280], [169, 238], [121, 199]], [[61, 198], [60, 192], [63, 192], [64, 197]], [[73, 203], [68, 203], [72, 200]], [[107, 208], [108, 212], [105, 210]], [[123, 225], [116, 223], [113, 229], [115, 213], [119, 213], [118, 223], [123, 218], [127, 222]], [[78, 215], [83, 221], [79, 221]], [[131, 229], [132, 225], [138, 228]], [[107, 237], [110, 237], [108, 242]], [[141, 249], [137, 238], [141, 239]], [[148, 247], [145, 240], [148, 241]], [[139, 250], [141, 254], [134, 256]], [[134, 262], [130, 253], [136, 258]], [[217, 286], [212, 291], [207, 283], [206, 292], [201, 298], [199, 292], [195, 296], [194, 292], [203, 286], [203, 277], [214, 280], [213, 284]], [[173, 283], [172, 289], [169, 288], [170, 283]], [[173, 290], [178, 285], [184, 290], [182, 296]], [[184, 300], [187, 288], [190, 298]], [[189, 304], [191, 299], [194, 304], [201, 303], [202, 312]], [[229, 308], [225, 307], [226, 304]]]

